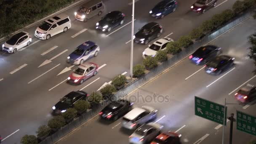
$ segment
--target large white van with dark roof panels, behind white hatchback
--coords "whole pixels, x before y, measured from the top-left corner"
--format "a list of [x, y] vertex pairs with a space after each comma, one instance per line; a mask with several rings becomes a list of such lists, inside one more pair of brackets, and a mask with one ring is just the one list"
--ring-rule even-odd
[[69, 16], [61, 13], [40, 24], [40, 26], [35, 30], [35, 36], [42, 40], [48, 40], [53, 35], [57, 35], [61, 32], [67, 32], [70, 27], [71, 22]]

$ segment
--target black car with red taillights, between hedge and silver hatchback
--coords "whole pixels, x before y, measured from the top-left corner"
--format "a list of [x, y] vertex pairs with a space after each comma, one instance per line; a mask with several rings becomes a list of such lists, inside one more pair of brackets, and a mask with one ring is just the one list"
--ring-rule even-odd
[[131, 111], [133, 103], [126, 100], [112, 101], [99, 112], [101, 118], [105, 120], [117, 120], [127, 112]]

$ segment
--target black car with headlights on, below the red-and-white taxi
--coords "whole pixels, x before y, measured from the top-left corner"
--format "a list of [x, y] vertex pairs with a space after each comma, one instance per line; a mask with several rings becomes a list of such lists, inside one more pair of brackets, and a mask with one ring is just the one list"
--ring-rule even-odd
[[72, 91], [52, 107], [53, 113], [60, 114], [66, 112], [67, 109], [73, 107], [77, 101], [86, 99], [87, 96], [88, 94], [84, 91]]

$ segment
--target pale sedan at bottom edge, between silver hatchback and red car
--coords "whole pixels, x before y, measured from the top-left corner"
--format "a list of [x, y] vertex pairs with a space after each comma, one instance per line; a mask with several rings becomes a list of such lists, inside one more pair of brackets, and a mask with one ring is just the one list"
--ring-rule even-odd
[[148, 144], [155, 139], [157, 135], [161, 133], [163, 125], [158, 123], [148, 123], [141, 125], [136, 131], [129, 136], [129, 142], [131, 144]]

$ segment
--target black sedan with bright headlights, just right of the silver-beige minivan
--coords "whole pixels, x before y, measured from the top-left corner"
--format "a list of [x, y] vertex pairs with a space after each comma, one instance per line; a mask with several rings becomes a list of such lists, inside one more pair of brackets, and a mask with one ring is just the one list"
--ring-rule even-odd
[[103, 32], [110, 32], [112, 28], [122, 25], [124, 21], [125, 14], [120, 11], [111, 11], [96, 23], [96, 29], [101, 29]]

